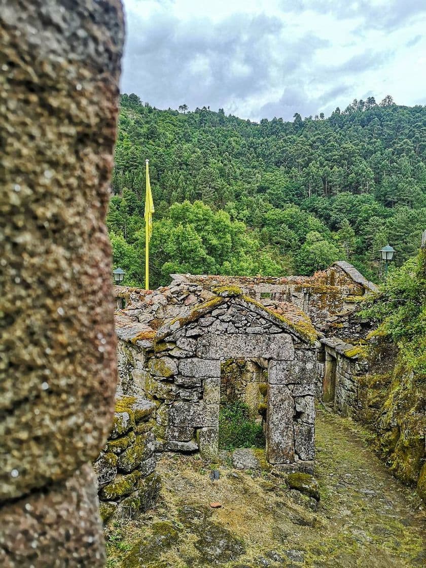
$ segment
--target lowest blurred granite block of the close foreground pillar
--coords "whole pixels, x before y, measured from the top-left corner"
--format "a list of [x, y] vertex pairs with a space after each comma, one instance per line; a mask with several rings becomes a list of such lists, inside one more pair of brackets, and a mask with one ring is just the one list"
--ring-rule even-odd
[[90, 465], [48, 491], [2, 505], [2, 568], [103, 568], [105, 561], [97, 478]]

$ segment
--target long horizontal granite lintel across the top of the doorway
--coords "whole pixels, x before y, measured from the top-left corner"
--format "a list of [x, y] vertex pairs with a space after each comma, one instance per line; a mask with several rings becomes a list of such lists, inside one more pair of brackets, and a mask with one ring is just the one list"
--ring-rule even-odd
[[197, 341], [197, 356], [208, 359], [264, 357], [293, 360], [294, 347], [287, 333], [247, 335], [245, 333], [206, 333]]

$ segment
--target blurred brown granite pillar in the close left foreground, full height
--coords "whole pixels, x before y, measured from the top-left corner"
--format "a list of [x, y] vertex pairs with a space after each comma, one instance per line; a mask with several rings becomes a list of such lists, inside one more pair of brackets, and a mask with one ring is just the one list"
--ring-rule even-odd
[[0, 0], [0, 566], [103, 566], [119, 0]]

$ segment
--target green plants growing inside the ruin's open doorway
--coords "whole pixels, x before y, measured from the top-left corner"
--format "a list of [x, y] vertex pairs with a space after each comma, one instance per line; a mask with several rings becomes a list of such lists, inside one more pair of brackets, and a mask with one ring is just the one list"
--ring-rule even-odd
[[264, 448], [265, 436], [261, 424], [250, 417], [249, 407], [236, 400], [221, 404], [219, 411], [219, 448]]

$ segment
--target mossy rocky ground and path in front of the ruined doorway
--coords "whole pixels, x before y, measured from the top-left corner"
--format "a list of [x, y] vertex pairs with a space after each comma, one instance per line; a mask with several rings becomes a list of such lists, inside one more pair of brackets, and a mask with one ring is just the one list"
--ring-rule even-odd
[[[424, 507], [387, 473], [367, 436], [318, 411], [318, 506], [271, 471], [261, 452], [260, 468], [245, 471], [231, 456], [212, 466], [165, 455], [156, 508], [107, 529], [108, 568], [425, 566]], [[212, 469], [219, 479], [212, 481]]]

